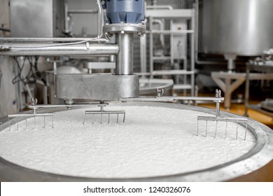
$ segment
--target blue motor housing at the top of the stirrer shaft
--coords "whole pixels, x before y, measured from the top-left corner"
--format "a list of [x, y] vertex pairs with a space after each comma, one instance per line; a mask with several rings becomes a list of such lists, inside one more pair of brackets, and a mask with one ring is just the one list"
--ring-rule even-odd
[[106, 15], [110, 24], [140, 23], [145, 18], [144, 0], [106, 0]]

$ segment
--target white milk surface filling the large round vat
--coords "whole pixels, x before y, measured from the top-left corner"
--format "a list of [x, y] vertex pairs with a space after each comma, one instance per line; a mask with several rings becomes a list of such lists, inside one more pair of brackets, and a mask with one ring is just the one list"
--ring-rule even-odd
[[[99, 109], [92, 107], [92, 110]], [[0, 156], [22, 167], [69, 176], [94, 178], [137, 178], [193, 172], [221, 165], [244, 155], [255, 145], [250, 132], [244, 140], [244, 127], [228, 123], [200, 122], [197, 136], [197, 116], [207, 113], [154, 106], [107, 106], [106, 111], [125, 110], [125, 123], [116, 123], [108, 115], [86, 116], [87, 109], [72, 109], [54, 113], [51, 118], [27, 120], [0, 132]]]

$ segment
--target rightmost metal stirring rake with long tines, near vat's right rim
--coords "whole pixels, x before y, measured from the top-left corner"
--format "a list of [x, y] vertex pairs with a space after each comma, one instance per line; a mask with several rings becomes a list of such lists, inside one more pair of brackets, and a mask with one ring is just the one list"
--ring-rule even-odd
[[[221, 98], [221, 90], [216, 90], [216, 98]], [[218, 122], [225, 122], [225, 139], [227, 138], [227, 131], [228, 131], [228, 122], [236, 123], [236, 139], [238, 139], [238, 123], [245, 123], [245, 132], [244, 132], [244, 140], [246, 140], [246, 131], [248, 120], [246, 118], [228, 118], [228, 117], [221, 117], [220, 116], [220, 103], [223, 101], [214, 101], [216, 102], [216, 116], [197, 116], [197, 136], [200, 132], [199, 121], [204, 120], [206, 121], [206, 130], [205, 130], [205, 137], [207, 137], [208, 132], [208, 121], [216, 121], [216, 128], [214, 132], [214, 138], [217, 136], [217, 129], [218, 129]]]

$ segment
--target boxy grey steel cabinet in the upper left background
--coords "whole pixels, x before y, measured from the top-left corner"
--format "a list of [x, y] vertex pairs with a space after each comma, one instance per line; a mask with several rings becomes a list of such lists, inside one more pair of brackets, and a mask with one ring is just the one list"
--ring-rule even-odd
[[62, 36], [62, 1], [10, 0], [10, 33], [13, 37]]

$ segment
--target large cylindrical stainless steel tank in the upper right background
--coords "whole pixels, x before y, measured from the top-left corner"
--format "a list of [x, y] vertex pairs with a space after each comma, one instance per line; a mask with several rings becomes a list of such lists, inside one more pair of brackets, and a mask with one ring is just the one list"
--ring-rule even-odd
[[203, 0], [202, 52], [262, 55], [273, 47], [273, 0]]

